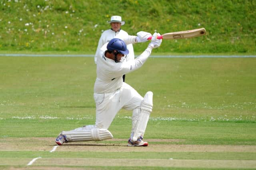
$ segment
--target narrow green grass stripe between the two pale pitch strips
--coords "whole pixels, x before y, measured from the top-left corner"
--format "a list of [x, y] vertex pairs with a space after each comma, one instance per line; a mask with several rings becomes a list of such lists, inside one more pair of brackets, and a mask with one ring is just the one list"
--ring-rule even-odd
[[210, 159], [210, 160], [256, 160], [255, 153], [248, 152], [48, 152], [4, 151], [2, 158], [142, 158], [142, 159]]

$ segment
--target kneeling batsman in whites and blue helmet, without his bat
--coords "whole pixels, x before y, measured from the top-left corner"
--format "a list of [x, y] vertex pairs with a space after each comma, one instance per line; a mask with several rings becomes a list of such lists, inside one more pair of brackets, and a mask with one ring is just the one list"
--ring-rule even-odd
[[101, 55], [97, 58], [97, 77], [94, 83], [95, 124], [60, 132], [55, 140], [58, 145], [112, 139], [108, 128], [118, 111], [126, 109], [132, 111], [132, 130], [127, 146], [148, 146], [143, 136], [153, 108], [153, 93], [148, 91], [142, 97], [133, 87], [123, 82], [122, 75], [142, 67], [152, 49], [161, 45], [162, 40], [156, 38], [160, 34], [154, 33], [144, 52], [136, 59], [126, 61], [125, 57], [129, 53], [127, 44], [146, 42], [150, 36], [152, 34], [141, 31], [137, 36], [113, 38], [102, 46]]

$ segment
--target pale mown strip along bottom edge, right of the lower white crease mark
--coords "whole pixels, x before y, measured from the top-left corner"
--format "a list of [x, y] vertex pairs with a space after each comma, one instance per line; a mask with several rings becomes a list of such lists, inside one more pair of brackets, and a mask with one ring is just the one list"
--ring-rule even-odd
[[184, 168], [256, 168], [256, 160], [184, 160], [184, 159], [109, 159], [109, 158], [42, 158], [36, 166], [158, 166]]

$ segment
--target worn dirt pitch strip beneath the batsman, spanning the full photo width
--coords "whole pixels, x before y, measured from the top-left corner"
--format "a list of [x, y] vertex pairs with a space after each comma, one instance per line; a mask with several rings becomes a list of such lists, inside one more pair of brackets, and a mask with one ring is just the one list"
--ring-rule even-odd
[[[51, 151], [55, 138], [1, 138], [0, 151], [35, 150]], [[176, 139], [148, 139], [148, 147], [127, 147], [124, 139], [112, 139], [114, 143], [104, 142], [70, 142], [58, 146], [54, 152], [256, 152], [256, 146], [250, 145], [189, 145], [172, 144]], [[122, 142], [120, 142], [122, 141]], [[170, 142], [170, 144], [150, 144], [150, 142]]]

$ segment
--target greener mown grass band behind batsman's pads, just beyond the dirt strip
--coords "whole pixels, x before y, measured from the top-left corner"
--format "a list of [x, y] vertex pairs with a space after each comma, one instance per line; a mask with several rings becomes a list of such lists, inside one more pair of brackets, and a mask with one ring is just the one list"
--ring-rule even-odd
[[[1, 121], [0, 137], [56, 137], [62, 130], [71, 130], [83, 125], [94, 124], [95, 119], [86, 120], [44, 120], [6, 119]], [[13, 130], [15, 125], [19, 130]], [[130, 135], [131, 120], [117, 118], [109, 130], [114, 138], [126, 139]], [[122, 129], [122, 130], [120, 130]], [[178, 139], [174, 144], [235, 144], [256, 145], [255, 123], [222, 123], [190, 121], [149, 121], [145, 138]], [[108, 141], [107, 143], [115, 143]], [[170, 142], [151, 142], [168, 144]]]

